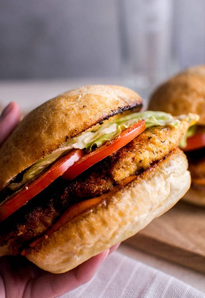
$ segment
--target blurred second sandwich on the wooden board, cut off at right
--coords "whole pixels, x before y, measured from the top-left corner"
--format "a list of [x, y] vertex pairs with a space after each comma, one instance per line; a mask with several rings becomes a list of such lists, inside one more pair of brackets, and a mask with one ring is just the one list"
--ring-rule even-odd
[[188, 130], [180, 148], [188, 158], [191, 188], [184, 200], [205, 206], [205, 65], [190, 67], [159, 86], [150, 98], [149, 108], [172, 113], [197, 113], [197, 125]]

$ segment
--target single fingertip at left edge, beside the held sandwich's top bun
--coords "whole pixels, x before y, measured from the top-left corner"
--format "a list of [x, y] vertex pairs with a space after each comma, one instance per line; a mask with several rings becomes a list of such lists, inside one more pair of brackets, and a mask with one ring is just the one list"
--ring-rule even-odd
[[0, 116], [0, 145], [11, 134], [20, 120], [20, 107], [16, 102], [10, 102]]

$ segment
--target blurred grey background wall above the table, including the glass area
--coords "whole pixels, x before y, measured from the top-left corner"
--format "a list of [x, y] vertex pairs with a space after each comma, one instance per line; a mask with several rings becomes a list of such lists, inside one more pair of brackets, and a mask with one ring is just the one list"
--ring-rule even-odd
[[205, 0], [2, 0], [0, 79], [162, 80], [205, 63]]

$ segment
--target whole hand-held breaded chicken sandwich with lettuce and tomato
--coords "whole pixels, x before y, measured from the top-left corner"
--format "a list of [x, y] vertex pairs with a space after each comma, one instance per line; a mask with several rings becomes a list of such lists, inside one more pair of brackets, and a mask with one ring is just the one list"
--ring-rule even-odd
[[0, 148], [0, 255], [68, 271], [131, 237], [188, 191], [178, 144], [197, 116], [141, 107], [128, 88], [90, 85], [19, 123]]

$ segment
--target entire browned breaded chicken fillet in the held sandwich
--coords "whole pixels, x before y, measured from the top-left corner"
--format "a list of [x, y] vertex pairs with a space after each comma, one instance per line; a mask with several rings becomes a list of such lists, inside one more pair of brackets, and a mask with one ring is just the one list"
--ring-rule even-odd
[[56, 179], [0, 224], [0, 245], [10, 243], [18, 253], [25, 243], [45, 233], [72, 204], [99, 196], [123, 179], [149, 169], [175, 147], [188, 129], [188, 122], [178, 127], [155, 126], [146, 129], [133, 141], [92, 166], [71, 182]]

